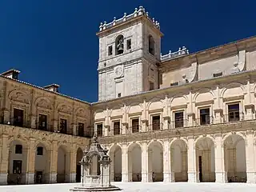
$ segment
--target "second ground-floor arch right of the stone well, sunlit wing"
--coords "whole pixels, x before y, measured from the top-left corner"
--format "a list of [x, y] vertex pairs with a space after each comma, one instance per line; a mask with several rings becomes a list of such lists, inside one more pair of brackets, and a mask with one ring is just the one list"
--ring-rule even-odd
[[128, 148], [128, 181], [142, 181], [142, 149], [137, 143]]

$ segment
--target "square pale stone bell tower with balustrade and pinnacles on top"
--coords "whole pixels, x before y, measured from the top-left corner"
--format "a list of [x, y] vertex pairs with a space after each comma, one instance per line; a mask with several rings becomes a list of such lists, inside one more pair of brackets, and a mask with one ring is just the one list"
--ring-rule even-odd
[[101, 23], [97, 35], [98, 101], [158, 89], [162, 32], [142, 6]]

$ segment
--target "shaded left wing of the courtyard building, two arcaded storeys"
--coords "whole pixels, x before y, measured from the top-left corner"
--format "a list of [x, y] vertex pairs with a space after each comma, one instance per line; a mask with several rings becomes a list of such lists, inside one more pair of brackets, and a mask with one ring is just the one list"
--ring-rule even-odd
[[1, 184], [76, 181], [90, 103], [2, 75], [0, 114]]

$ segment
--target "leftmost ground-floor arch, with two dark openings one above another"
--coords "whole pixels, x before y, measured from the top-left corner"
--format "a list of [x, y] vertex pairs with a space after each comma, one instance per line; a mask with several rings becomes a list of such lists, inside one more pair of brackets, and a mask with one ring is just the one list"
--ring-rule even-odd
[[25, 148], [26, 146], [18, 140], [10, 142], [8, 184], [26, 183], [27, 150]]

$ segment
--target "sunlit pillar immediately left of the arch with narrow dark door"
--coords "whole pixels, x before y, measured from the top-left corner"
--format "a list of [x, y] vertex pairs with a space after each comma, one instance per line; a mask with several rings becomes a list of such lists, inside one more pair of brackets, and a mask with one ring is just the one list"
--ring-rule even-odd
[[199, 182], [199, 175], [196, 170], [196, 154], [195, 154], [194, 136], [188, 137], [187, 161], [188, 161], [188, 170], [187, 170], [188, 182]]

